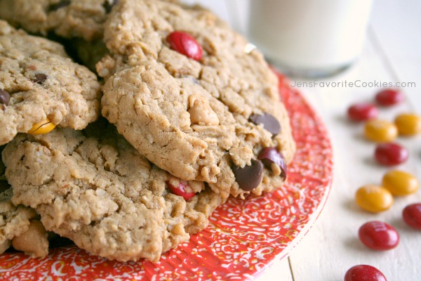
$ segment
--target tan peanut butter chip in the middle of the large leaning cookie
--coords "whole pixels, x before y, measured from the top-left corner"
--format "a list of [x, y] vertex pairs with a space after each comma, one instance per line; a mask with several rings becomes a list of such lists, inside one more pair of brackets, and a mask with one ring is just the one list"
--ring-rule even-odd
[[189, 96], [189, 114], [192, 124], [218, 125], [218, 115], [212, 110], [209, 101], [199, 95]]

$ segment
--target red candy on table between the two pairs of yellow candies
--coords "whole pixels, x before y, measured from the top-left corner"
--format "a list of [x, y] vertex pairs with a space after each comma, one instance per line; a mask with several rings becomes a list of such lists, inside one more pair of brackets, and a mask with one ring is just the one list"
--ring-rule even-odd
[[374, 151], [376, 161], [385, 166], [402, 164], [408, 157], [408, 150], [398, 143], [380, 143]]

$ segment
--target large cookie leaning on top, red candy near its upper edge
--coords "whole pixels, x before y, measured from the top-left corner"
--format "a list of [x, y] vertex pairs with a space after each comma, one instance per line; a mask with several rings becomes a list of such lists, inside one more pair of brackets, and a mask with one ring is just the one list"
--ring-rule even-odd
[[225, 22], [198, 6], [121, 0], [104, 40], [102, 115], [151, 162], [223, 197], [283, 184], [295, 143], [278, 80]]

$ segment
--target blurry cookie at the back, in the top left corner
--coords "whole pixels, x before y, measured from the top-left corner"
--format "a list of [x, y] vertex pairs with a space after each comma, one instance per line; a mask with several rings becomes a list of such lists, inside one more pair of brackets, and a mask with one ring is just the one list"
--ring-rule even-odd
[[1, 0], [0, 18], [28, 32], [61, 37], [102, 38], [103, 23], [116, 0]]

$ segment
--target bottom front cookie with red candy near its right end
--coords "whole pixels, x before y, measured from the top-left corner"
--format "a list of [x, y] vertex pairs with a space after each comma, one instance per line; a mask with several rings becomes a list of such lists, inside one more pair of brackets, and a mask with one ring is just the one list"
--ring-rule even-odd
[[206, 228], [219, 195], [150, 164], [115, 129], [95, 126], [19, 134], [8, 143], [13, 203], [36, 209], [47, 230], [118, 261], [158, 261]]

